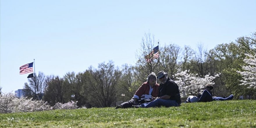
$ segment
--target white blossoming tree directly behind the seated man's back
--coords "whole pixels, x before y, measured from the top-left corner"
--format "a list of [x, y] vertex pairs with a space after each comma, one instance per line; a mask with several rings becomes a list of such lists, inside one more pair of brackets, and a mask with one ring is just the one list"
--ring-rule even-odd
[[187, 97], [189, 95], [198, 95], [200, 90], [207, 84], [214, 85], [214, 79], [219, 77], [219, 74], [205, 75], [204, 77], [198, 76], [198, 74], [189, 73], [189, 70], [180, 71], [173, 75], [175, 82], [179, 85], [179, 90], [181, 92], [181, 97]]

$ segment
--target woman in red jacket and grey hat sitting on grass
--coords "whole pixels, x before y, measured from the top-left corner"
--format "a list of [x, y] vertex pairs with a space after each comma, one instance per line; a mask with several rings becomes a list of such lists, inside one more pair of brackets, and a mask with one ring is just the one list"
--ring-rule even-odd
[[159, 84], [156, 82], [157, 76], [154, 72], [150, 73], [147, 76], [147, 82], [144, 82], [140, 88], [136, 91], [134, 96], [131, 98], [131, 100], [124, 102], [118, 106], [116, 106], [115, 109], [125, 109], [125, 108], [131, 108], [132, 105], [138, 105], [138, 99], [140, 98], [152, 98], [155, 99], [158, 95], [158, 88]]

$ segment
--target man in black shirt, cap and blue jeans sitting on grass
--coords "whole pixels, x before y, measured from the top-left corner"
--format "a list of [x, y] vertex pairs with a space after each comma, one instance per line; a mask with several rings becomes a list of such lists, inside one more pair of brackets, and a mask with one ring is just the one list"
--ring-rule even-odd
[[158, 89], [158, 97], [151, 102], [135, 105], [135, 108], [143, 107], [159, 107], [159, 106], [179, 106], [181, 103], [179, 86], [173, 80], [171, 80], [167, 73], [160, 71], [157, 73], [157, 79], [161, 81]]

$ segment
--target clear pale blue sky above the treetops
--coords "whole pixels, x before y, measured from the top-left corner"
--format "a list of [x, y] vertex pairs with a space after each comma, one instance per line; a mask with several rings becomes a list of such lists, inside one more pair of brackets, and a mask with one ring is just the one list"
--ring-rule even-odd
[[60, 77], [109, 60], [135, 65], [148, 31], [161, 45], [209, 50], [256, 31], [256, 1], [1, 0], [0, 86], [22, 89], [19, 67], [33, 59], [36, 73]]

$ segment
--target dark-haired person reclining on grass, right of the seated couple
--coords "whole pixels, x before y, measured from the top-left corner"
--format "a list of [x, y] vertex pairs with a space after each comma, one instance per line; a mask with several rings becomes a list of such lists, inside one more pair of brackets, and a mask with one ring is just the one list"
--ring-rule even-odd
[[197, 96], [190, 95], [185, 103], [192, 103], [192, 102], [211, 102], [211, 101], [223, 101], [223, 100], [231, 100], [234, 98], [234, 95], [230, 95], [229, 97], [216, 97], [212, 95], [211, 90], [213, 89], [213, 85], [206, 85], [205, 90], [203, 90], [202, 94]]

